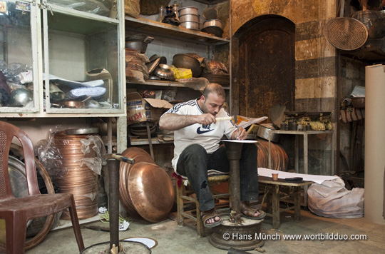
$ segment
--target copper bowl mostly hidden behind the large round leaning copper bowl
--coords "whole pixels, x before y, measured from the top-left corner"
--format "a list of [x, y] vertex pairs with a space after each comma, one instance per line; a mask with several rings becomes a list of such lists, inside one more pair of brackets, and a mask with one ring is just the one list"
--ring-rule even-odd
[[[155, 161], [153, 158], [148, 154], [146, 151], [144, 151], [142, 148], [138, 147], [130, 147], [125, 149], [123, 151], [122, 156], [125, 156], [127, 158], [133, 158], [135, 159], [135, 163], [139, 162], [148, 162], [148, 163], [154, 163]], [[127, 211], [129, 215], [131, 215], [133, 218], [141, 218], [139, 213], [135, 210], [135, 207], [131, 201], [130, 195], [128, 195], [128, 173], [130, 172], [130, 168], [132, 168], [133, 165], [128, 163], [120, 163], [119, 168], [119, 200], [123, 205], [123, 208]]]

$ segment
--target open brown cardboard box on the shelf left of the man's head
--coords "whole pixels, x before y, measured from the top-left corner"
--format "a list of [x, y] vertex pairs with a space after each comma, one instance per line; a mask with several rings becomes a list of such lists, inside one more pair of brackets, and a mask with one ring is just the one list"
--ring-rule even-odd
[[127, 93], [127, 124], [157, 122], [173, 105], [165, 100], [142, 98], [139, 93]]

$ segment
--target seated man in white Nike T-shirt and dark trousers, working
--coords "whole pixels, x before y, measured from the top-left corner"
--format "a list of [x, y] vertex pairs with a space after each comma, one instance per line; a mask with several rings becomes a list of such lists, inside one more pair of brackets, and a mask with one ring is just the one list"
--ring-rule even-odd
[[[229, 161], [225, 146], [220, 139], [244, 140], [247, 133], [232, 120], [216, 121], [215, 117], [227, 117], [223, 108], [225, 90], [217, 83], [210, 83], [202, 96], [195, 100], [178, 103], [160, 117], [159, 126], [163, 130], [174, 131], [173, 167], [188, 181], [197, 195], [203, 224], [207, 228], [222, 223], [215, 212], [207, 181], [207, 170], [215, 169], [228, 173]], [[260, 220], [265, 217], [262, 210], [250, 208], [250, 200], [258, 199], [257, 146], [244, 143], [240, 159], [240, 198], [241, 211], [247, 218]]]

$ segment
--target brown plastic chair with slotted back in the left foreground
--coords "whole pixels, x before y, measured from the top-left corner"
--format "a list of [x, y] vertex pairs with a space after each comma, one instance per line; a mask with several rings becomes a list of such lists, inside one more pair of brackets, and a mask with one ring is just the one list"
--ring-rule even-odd
[[[13, 138], [19, 139], [24, 151], [26, 181], [29, 195], [15, 198], [9, 182], [8, 156]], [[0, 252], [24, 253], [26, 224], [29, 220], [58, 213], [69, 208], [73, 231], [79, 251], [84, 249], [81, 228], [72, 194], [41, 194], [36, 176], [34, 146], [31, 139], [20, 128], [0, 121], [0, 219], [6, 221], [6, 245], [0, 245]]]

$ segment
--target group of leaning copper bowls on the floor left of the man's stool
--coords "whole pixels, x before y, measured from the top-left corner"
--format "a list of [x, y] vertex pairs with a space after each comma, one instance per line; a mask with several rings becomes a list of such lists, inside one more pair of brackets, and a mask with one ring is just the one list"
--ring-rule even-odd
[[123, 156], [135, 164], [120, 163], [119, 199], [133, 218], [157, 223], [167, 218], [174, 204], [174, 188], [168, 173], [143, 149], [127, 148]]

